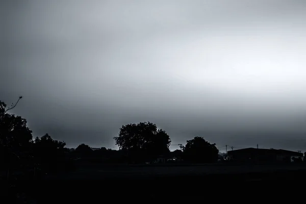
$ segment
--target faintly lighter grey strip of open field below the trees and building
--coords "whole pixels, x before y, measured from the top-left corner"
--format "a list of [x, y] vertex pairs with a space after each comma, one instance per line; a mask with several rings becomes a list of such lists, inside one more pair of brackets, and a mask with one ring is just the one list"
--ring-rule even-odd
[[149, 179], [150, 177], [205, 176], [212, 174], [241, 174], [306, 170], [306, 165], [110, 165], [89, 166], [62, 176], [65, 180], [105, 180], [105, 179]]

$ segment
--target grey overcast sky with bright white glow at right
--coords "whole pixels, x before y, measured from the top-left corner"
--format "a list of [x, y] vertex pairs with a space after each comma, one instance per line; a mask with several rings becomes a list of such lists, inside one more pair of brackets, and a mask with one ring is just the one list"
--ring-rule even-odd
[[176, 144], [306, 150], [303, 1], [2, 1], [0, 100], [33, 136], [116, 148], [123, 124]]

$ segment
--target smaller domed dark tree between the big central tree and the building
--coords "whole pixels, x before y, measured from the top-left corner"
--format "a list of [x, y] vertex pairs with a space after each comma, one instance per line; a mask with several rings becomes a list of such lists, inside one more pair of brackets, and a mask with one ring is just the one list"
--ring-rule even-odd
[[202, 137], [194, 137], [187, 140], [184, 159], [192, 163], [213, 163], [218, 160], [218, 153], [216, 144], [211, 144]]

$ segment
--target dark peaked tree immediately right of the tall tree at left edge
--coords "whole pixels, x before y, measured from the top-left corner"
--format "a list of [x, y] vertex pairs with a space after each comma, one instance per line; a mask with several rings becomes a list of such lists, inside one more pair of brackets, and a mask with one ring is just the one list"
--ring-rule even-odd
[[33, 144], [34, 160], [45, 171], [59, 169], [65, 160], [66, 143], [52, 139], [49, 134], [36, 137]]

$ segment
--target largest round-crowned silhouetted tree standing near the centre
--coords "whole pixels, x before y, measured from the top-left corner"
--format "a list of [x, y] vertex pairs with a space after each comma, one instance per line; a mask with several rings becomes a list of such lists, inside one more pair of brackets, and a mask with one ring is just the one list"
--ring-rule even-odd
[[167, 133], [158, 130], [156, 124], [140, 122], [122, 125], [118, 137], [114, 137], [120, 150], [135, 161], [153, 160], [169, 153], [171, 140]]

